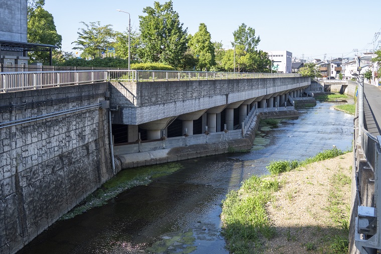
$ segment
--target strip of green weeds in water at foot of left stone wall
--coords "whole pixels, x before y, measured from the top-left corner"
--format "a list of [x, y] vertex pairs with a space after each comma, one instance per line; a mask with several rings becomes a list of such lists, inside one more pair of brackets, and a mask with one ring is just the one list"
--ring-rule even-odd
[[180, 164], [167, 163], [122, 170], [115, 177], [104, 183], [101, 188], [90, 194], [79, 205], [64, 214], [60, 220], [74, 218], [89, 209], [105, 205], [108, 200], [116, 197], [127, 189], [149, 184], [152, 179], [169, 175], [180, 168]]

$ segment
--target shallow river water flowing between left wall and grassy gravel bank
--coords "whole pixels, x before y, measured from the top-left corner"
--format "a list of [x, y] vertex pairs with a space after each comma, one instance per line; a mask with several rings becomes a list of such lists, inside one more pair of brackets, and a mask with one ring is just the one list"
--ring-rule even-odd
[[[297, 119], [263, 128], [247, 153], [178, 162], [180, 170], [131, 188], [106, 205], [58, 221], [22, 253], [229, 253], [221, 201], [273, 160], [304, 160], [336, 146], [351, 149], [353, 116], [318, 102]], [[165, 165], [164, 165], [165, 166]]]

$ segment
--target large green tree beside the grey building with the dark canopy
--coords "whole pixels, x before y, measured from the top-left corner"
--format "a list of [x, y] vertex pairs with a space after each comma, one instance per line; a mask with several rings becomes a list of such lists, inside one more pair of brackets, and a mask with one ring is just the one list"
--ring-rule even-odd
[[[62, 36], [57, 33], [53, 15], [42, 8], [44, 1], [36, 1], [35, 6], [28, 7], [28, 42], [54, 45], [61, 48]], [[36, 7], [37, 6], [37, 7]], [[34, 51], [29, 53], [32, 61], [48, 64], [49, 52]]]

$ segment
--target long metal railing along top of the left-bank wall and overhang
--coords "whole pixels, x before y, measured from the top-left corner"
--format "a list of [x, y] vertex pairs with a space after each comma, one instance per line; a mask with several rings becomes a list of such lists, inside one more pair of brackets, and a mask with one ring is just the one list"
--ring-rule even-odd
[[170, 81], [200, 79], [243, 79], [300, 77], [295, 73], [242, 73], [197, 71], [143, 71], [143, 70], [77, 70], [0, 72], [0, 92], [13, 92], [68, 85], [90, 84], [102, 81]]

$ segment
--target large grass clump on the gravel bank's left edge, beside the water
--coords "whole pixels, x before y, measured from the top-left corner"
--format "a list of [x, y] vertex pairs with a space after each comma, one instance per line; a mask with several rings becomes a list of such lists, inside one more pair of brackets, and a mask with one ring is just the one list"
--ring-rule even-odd
[[271, 201], [271, 193], [277, 191], [276, 179], [257, 176], [245, 180], [239, 191], [230, 191], [223, 201], [223, 236], [230, 253], [252, 253], [261, 246], [261, 238], [275, 236], [265, 205]]

